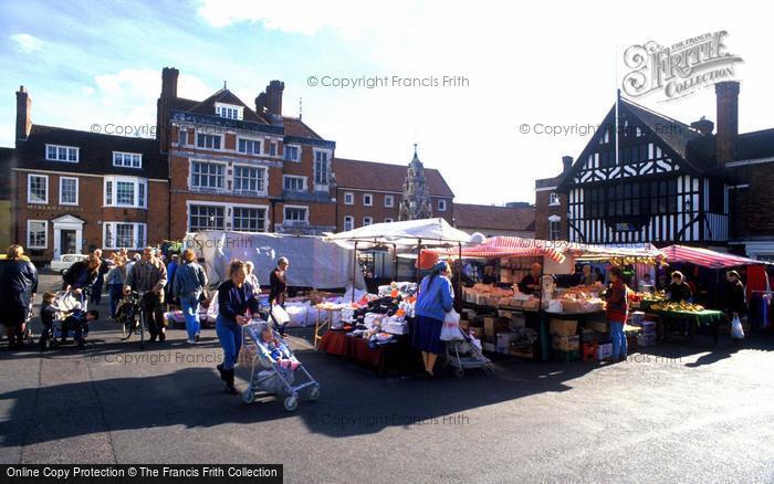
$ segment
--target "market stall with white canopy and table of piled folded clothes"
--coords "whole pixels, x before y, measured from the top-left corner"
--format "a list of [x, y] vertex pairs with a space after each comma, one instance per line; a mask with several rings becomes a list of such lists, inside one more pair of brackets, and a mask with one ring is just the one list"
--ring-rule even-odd
[[[471, 236], [443, 219], [428, 219], [366, 225], [325, 240], [353, 249], [355, 256], [358, 250], [390, 248], [397, 260], [400, 253], [419, 254], [428, 246], [457, 246], [459, 251]], [[318, 305], [315, 346], [368, 365], [380, 375], [421, 369], [410, 339], [416, 295], [417, 282], [394, 281], [379, 286], [376, 294], [352, 291], [341, 304]]]

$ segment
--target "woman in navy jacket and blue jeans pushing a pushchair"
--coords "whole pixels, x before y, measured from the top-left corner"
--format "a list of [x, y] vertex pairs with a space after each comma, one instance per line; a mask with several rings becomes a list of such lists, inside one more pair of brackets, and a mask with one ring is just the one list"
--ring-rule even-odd
[[244, 262], [231, 261], [229, 280], [218, 286], [218, 318], [215, 330], [223, 348], [223, 362], [218, 365], [226, 391], [237, 393], [233, 386], [233, 367], [242, 347], [242, 325], [258, 313], [258, 298], [253, 286], [245, 283]]

